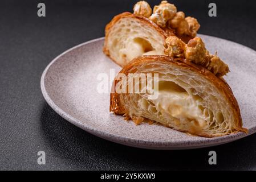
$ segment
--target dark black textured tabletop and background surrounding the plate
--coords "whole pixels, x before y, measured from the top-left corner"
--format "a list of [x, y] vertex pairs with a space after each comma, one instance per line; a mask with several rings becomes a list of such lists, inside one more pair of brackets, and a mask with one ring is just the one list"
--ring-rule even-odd
[[[46, 17], [37, 4], [46, 4]], [[61, 118], [40, 91], [48, 63], [66, 49], [104, 36], [105, 24], [136, 1], [0, 1], [0, 169], [256, 169], [256, 135], [222, 146], [154, 151], [122, 146]], [[151, 6], [160, 1], [148, 1]], [[255, 1], [170, 1], [201, 24], [199, 33], [256, 49]], [[210, 2], [217, 17], [208, 16]], [[241, 60], [243, 61], [243, 60]], [[36, 162], [46, 152], [46, 165]], [[208, 152], [217, 152], [217, 165]]]

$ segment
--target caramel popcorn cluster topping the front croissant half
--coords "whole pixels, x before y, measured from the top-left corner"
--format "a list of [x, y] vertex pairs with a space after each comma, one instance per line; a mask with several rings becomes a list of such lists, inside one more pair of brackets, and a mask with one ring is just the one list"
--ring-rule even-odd
[[209, 71], [219, 77], [222, 77], [229, 72], [227, 64], [217, 56], [217, 53], [211, 55], [205, 48], [202, 39], [198, 37], [189, 40], [188, 44], [185, 44], [176, 36], [169, 36], [165, 40], [165, 54], [170, 57], [185, 58], [192, 63], [209, 69]]

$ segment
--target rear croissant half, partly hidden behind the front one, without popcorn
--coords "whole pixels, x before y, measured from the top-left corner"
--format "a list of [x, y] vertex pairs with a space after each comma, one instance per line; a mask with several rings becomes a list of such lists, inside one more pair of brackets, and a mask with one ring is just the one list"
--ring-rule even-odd
[[[165, 39], [173, 35], [176, 34], [172, 28], [161, 28], [144, 16], [125, 12], [115, 16], [105, 27], [103, 52], [123, 67], [138, 56], [165, 55]], [[193, 38], [178, 37], [184, 42]]]

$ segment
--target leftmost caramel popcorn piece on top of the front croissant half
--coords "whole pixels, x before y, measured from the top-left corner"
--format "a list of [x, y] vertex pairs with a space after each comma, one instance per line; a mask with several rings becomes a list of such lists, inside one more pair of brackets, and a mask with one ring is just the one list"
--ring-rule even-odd
[[170, 57], [184, 57], [186, 44], [177, 36], [169, 36], [165, 40], [165, 54]]

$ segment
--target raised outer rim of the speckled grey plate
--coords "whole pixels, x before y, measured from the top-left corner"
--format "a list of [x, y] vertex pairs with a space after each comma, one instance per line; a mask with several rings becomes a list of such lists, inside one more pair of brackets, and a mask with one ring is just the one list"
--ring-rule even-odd
[[[221, 40], [225, 40], [227, 42], [231, 42], [234, 44], [238, 44], [239, 46], [242, 46], [244, 48], [246, 48], [247, 50], [249, 50], [252, 53], [256, 54], [256, 51], [254, 51], [254, 49], [251, 49], [249, 47], [243, 46], [242, 44], [239, 43], [235, 43], [232, 42], [230, 40], [226, 40], [226, 39], [222, 39], [222, 38], [217, 38], [215, 36], [210, 36], [210, 35], [203, 35], [203, 34], [198, 34], [199, 36], [208, 36], [208, 37], [212, 37], [215, 39], [221, 39]], [[61, 117], [63, 117], [64, 119], [66, 119], [68, 122], [72, 123], [75, 126], [78, 126], [80, 129], [83, 129], [85, 131], [87, 131], [88, 133], [92, 134], [92, 135], [96, 135], [97, 137], [103, 138], [103, 139], [107, 139], [111, 142], [115, 142], [115, 143], [120, 143], [120, 144], [124, 144], [126, 146], [131, 146], [131, 147], [137, 147], [137, 148], [147, 148], [147, 149], [154, 149], [154, 150], [184, 150], [184, 149], [192, 149], [192, 148], [204, 148], [204, 147], [210, 147], [210, 146], [217, 146], [220, 144], [224, 144], [224, 143], [229, 143], [229, 142], [233, 142], [234, 140], [238, 140], [244, 137], [247, 137], [251, 134], [256, 133], [256, 126], [252, 127], [250, 129], [249, 134], [245, 134], [245, 133], [235, 133], [235, 134], [230, 134], [230, 135], [225, 135], [222, 137], [214, 137], [214, 138], [210, 138], [208, 143], [204, 143], [204, 144], [200, 144], [197, 143], [196, 141], [195, 144], [188, 144], [189, 140], [185, 141], [186, 144], [182, 143], [182, 142], [176, 142], [173, 143], [171, 141], [166, 141], [166, 142], [157, 142], [157, 141], [149, 141], [149, 140], [143, 140], [143, 139], [136, 139], [136, 138], [129, 138], [129, 137], [124, 137], [121, 135], [117, 135], [117, 134], [112, 134], [112, 133], [108, 133], [107, 131], [104, 130], [100, 130], [97, 129], [96, 127], [92, 127], [90, 125], [88, 125], [85, 122], [80, 122], [79, 119], [76, 119], [74, 117], [72, 117], [72, 115], [66, 113], [64, 110], [62, 110], [58, 105], [55, 104], [55, 102], [51, 99], [51, 97], [48, 95], [47, 90], [46, 90], [46, 86], [44, 84], [48, 69], [51, 67], [52, 64], [54, 64], [60, 57], [62, 57], [63, 55], [65, 55], [68, 52], [71, 52], [72, 50], [85, 46], [87, 44], [93, 43], [93, 42], [97, 42], [100, 40], [104, 40], [104, 37], [101, 38], [97, 38], [97, 39], [92, 39], [89, 40], [87, 42], [78, 44], [77, 46], [74, 46], [70, 49], [67, 49], [67, 51], [64, 51], [63, 53], [60, 53], [60, 55], [56, 56], [48, 65], [47, 67], [44, 69], [42, 76], [40, 78], [40, 89], [42, 91], [43, 97], [46, 100], [47, 104], [50, 105], [50, 107], [56, 112], [58, 113]], [[220, 138], [222, 138], [221, 142], [220, 142]], [[192, 142], [192, 143], [193, 143]]]

